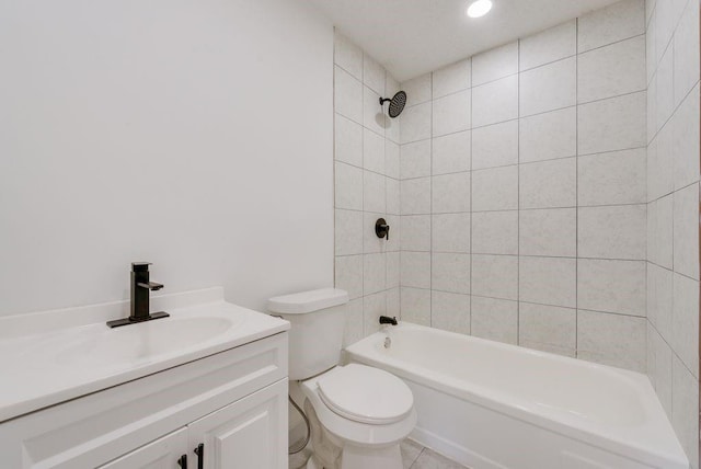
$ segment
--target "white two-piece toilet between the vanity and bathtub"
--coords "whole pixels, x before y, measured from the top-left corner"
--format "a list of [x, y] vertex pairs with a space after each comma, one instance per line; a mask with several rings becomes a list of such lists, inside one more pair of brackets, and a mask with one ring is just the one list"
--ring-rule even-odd
[[291, 323], [290, 394], [303, 397], [312, 433], [307, 468], [402, 469], [399, 444], [416, 424], [414, 397], [388, 371], [338, 365], [347, 304], [337, 288], [268, 300], [268, 311]]

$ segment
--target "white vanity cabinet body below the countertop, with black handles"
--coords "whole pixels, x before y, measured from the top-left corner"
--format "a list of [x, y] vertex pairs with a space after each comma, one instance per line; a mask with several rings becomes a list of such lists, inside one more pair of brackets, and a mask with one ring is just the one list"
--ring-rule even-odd
[[287, 333], [3, 422], [0, 451], [12, 469], [287, 468]]

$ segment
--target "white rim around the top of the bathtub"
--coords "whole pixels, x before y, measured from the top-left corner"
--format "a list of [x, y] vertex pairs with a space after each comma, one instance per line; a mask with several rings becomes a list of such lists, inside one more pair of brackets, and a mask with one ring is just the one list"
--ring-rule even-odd
[[[582, 420], [567, 422], [562, 417], [562, 412], [543, 412], [542, 408], [537, 409], [533, 405], [529, 405], [528, 402], [515, 401], [512, 396], [506, 393], [499, 392], [494, 394], [492, 392], [492, 396], [487, 396], [487, 391], [490, 390], [484, 387], [475, 385], [459, 387], [458, 382], [461, 382], [461, 380], [457, 378], [446, 377], [440, 373], [435, 373], [420, 366], [414, 367], [411, 364], [409, 364], [410, 366], [405, 366], [402, 365], [402, 361], [394, 357], [380, 356], [374, 345], [381, 344], [388, 335], [387, 331], [382, 330], [348, 345], [344, 350], [345, 361], [357, 362], [387, 369], [404, 379], [421, 384], [438, 392], [444, 392], [458, 399], [468, 400], [478, 405], [490, 409], [491, 411], [521, 420], [550, 432], [566, 435], [591, 446], [636, 460], [641, 464], [656, 464], [659, 467], [665, 467], [664, 465], [671, 461], [676, 465], [675, 467], [678, 466], [685, 469], [689, 467], [689, 460], [679, 444], [679, 441], [664, 409], [662, 408], [662, 404], [659, 403], [659, 400], [656, 397], [656, 393], [654, 392], [654, 389], [652, 388], [650, 378], [643, 374], [405, 321], [401, 321], [399, 325], [389, 329], [389, 333], [391, 335], [392, 330], [397, 331], [401, 329], [423, 330], [427, 333], [439, 336], [444, 335], [458, 338], [459, 340], [474, 341], [478, 344], [483, 344], [484, 346], [501, 348], [519, 354], [528, 354], [539, 358], [571, 364], [577, 367], [585, 367], [594, 369], [597, 373], [614, 376], [618, 379], [632, 384], [635, 392], [641, 399], [646, 420], [642, 425], [640, 425], [640, 427], [642, 427], [643, 431], [646, 430], [648, 432], [648, 434], [643, 434], [642, 436], [650, 439], [651, 431], [656, 433], [664, 431], [663, 436], [667, 434], [670, 437], [664, 438], [665, 441], [663, 445], [659, 444], [659, 441], [652, 438], [652, 441], [655, 442], [655, 445], [653, 445], [653, 449], [651, 449], [651, 446], [643, 445], [634, 438], [622, 438], [620, 432], [611, 432], [610, 428], [606, 428], [605, 425], [594, 421], [590, 421], [589, 425], [583, 424], [584, 421]], [[406, 364], [406, 362], [404, 363]], [[417, 369], [425, 373], [420, 374], [417, 373]], [[645, 455], [645, 460], [641, 459], [641, 454]]]

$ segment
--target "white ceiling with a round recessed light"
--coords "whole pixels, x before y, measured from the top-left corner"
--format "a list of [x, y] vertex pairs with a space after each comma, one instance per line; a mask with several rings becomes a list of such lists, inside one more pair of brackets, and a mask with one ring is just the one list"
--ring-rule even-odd
[[470, 19], [471, 0], [308, 0], [399, 81], [600, 9], [617, 0], [493, 0]]

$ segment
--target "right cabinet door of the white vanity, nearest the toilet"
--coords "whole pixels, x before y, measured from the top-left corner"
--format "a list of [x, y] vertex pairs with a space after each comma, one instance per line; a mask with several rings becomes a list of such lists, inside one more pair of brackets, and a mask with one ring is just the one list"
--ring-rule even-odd
[[287, 469], [287, 379], [187, 426], [193, 467], [204, 444], [205, 469]]

